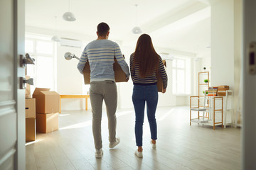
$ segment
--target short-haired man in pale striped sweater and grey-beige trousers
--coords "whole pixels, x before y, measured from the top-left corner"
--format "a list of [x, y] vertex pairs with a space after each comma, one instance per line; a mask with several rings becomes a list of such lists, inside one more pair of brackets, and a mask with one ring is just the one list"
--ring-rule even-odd
[[116, 42], [107, 40], [110, 27], [107, 23], [99, 23], [97, 26], [97, 40], [90, 42], [78, 63], [78, 70], [82, 74], [85, 63], [90, 64], [90, 101], [92, 105], [92, 132], [95, 141], [95, 157], [101, 158], [102, 151], [102, 101], [104, 99], [107, 108], [108, 129], [110, 148], [117, 146], [120, 142], [116, 137], [117, 127], [117, 86], [114, 81], [114, 57], [122, 67], [129, 79], [129, 68], [122, 57], [122, 52]]

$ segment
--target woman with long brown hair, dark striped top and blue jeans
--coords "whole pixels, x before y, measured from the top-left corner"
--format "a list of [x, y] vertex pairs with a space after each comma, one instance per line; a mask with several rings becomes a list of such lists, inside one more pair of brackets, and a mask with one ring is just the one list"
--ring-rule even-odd
[[138, 149], [137, 157], [142, 154], [142, 132], [144, 123], [144, 108], [146, 103], [147, 117], [151, 132], [151, 145], [156, 148], [156, 106], [158, 102], [158, 90], [156, 86], [156, 73], [160, 72], [163, 79], [164, 90], [167, 87], [167, 74], [161, 57], [154, 50], [151, 38], [142, 34], [138, 41], [135, 52], [130, 57], [131, 77], [134, 84], [132, 102], [135, 111], [135, 137]]

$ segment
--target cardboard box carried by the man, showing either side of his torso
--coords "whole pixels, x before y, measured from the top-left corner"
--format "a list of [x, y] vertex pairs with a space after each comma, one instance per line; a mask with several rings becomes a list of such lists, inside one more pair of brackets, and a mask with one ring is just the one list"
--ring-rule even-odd
[[[124, 55], [123, 55], [124, 56]], [[114, 79], [116, 82], [127, 82], [126, 74], [122, 70], [121, 66], [118, 64], [117, 60], [114, 58]], [[83, 76], [85, 84], [90, 84], [90, 64], [89, 62], [85, 63], [85, 68], [83, 69]]]

